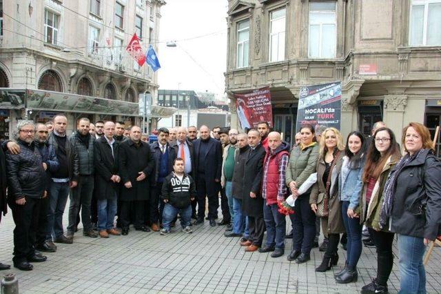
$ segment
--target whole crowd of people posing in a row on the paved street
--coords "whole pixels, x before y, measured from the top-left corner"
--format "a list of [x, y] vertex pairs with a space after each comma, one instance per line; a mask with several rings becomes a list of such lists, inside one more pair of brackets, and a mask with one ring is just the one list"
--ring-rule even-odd
[[[292, 147], [265, 121], [246, 133], [160, 128], [152, 144], [139, 126], [81, 118], [68, 137], [67, 124], [64, 115], [50, 124], [20, 121], [15, 140], [1, 142], [0, 208], [12, 210], [20, 270], [44, 262], [42, 252], [57, 251], [55, 243], [72, 244], [80, 219], [83, 235], [108, 238], [128, 235], [131, 224], [168, 235], [179, 217], [185, 233], [205, 220], [225, 225], [225, 237], [240, 238], [245, 251], [274, 258], [285, 255], [291, 237], [287, 259], [298, 264], [311, 258], [321, 228], [325, 253], [316, 271], [338, 264], [342, 243], [340, 284], [357, 280], [362, 240], [370, 242], [377, 275], [362, 293], [388, 292], [398, 235], [400, 287], [425, 292], [422, 257], [441, 228], [441, 164], [422, 124], [404, 128], [400, 142], [381, 121], [371, 136], [353, 131], [345, 141], [336, 128], [304, 125]], [[219, 198], [223, 219], [216, 222]]]

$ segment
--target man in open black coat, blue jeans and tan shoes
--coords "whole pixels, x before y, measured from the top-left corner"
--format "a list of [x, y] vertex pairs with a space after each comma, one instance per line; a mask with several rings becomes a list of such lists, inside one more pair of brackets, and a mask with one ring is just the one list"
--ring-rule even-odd
[[119, 143], [114, 139], [115, 124], [106, 121], [104, 136], [94, 144], [95, 189], [98, 204], [99, 235], [121, 235], [114, 228], [116, 214], [116, 190], [119, 188]]

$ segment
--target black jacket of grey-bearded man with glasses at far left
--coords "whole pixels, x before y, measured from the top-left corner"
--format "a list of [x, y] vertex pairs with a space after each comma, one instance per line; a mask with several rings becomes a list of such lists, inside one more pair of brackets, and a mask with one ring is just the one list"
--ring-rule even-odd
[[20, 153], [6, 153], [8, 198], [15, 201], [23, 197], [42, 198], [46, 188], [46, 175], [41, 155], [34, 141], [28, 144], [18, 140]]

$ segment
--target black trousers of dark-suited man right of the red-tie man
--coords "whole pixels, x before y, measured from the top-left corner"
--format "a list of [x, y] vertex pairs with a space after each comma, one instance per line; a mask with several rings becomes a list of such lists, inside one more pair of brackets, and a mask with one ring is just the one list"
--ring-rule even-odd
[[209, 182], [205, 179], [204, 174], [198, 174], [196, 181], [196, 192], [198, 195], [198, 218], [203, 219], [205, 216], [205, 197], [208, 198], [208, 219], [215, 219], [218, 216], [219, 197], [218, 188], [215, 189], [215, 193], [207, 194], [207, 188], [209, 186], [220, 186], [219, 183]]

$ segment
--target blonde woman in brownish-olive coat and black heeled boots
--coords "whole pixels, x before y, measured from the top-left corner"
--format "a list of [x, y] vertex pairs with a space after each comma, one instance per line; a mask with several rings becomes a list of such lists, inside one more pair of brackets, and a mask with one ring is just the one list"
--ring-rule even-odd
[[340, 199], [338, 199], [338, 175], [342, 168], [345, 145], [341, 133], [336, 128], [327, 128], [320, 139], [320, 155], [317, 161], [317, 183], [311, 192], [311, 209], [318, 214], [318, 205], [322, 206], [320, 222], [322, 232], [328, 238], [322, 264], [318, 272], [331, 269], [338, 262], [338, 242], [340, 233], [345, 232]]

